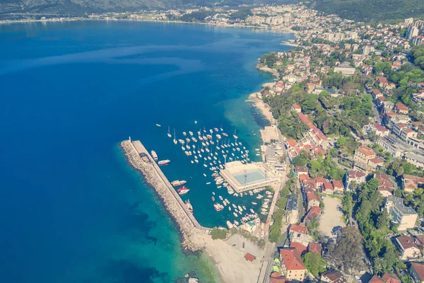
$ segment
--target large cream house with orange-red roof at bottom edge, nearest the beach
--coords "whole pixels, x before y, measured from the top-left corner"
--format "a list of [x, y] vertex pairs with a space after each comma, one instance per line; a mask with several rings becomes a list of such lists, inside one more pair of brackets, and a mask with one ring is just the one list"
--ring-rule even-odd
[[281, 275], [290, 280], [303, 281], [306, 268], [298, 250], [294, 248], [280, 249]]

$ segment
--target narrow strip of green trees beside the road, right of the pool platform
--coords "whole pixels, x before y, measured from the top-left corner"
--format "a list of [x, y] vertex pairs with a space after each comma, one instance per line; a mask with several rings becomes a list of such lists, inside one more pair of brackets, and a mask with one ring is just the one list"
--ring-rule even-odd
[[269, 241], [276, 243], [281, 237], [281, 227], [283, 226], [283, 216], [285, 216], [285, 206], [287, 205], [290, 187], [293, 185], [292, 180], [287, 180], [285, 186], [280, 191], [280, 198], [276, 202], [277, 209], [272, 214], [273, 224], [269, 227]]

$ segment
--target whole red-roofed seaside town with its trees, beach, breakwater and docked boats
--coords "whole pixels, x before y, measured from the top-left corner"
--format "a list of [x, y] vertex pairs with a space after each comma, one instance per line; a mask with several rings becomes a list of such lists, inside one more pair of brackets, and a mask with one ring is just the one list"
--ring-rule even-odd
[[[240, 160], [207, 161], [216, 184], [227, 184], [230, 195], [268, 190], [262, 214], [242, 215], [247, 209], [235, 204], [232, 212], [226, 200], [225, 208], [244, 219], [228, 221], [227, 227], [200, 226], [189, 202], [182, 202], [152, 162], [153, 153], [139, 141], [122, 143], [129, 162], [177, 219], [184, 246], [205, 249], [225, 282], [424, 282], [424, 21], [355, 23], [302, 5], [88, 18], [247, 26], [295, 35], [283, 42], [293, 49], [264, 54], [257, 64], [275, 78], [248, 100], [270, 123], [261, 130], [257, 151], [263, 160], [248, 162], [246, 151]], [[205, 143], [217, 132], [222, 134], [211, 130]], [[172, 139], [169, 130], [168, 136]], [[186, 147], [189, 142], [182, 146], [186, 155], [200, 155]], [[219, 141], [214, 146], [227, 148]], [[224, 209], [216, 204], [217, 211]]]

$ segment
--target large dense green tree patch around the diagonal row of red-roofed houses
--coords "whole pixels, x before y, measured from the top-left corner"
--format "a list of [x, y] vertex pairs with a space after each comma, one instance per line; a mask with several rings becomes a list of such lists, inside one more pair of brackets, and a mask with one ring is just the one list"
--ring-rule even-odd
[[[327, 79], [327, 82], [330, 81], [331, 79]], [[351, 82], [346, 81], [341, 87]], [[322, 91], [317, 96], [305, 91], [305, 83], [296, 83], [281, 96], [267, 96], [264, 101], [271, 106], [271, 112], [278, 120], [278, 127], [285, 137], [300, 139], [307, 132], [307, 126], [300, 122], [298, 113], [290, 110], [294, 103], [298, 103], [302, 112], [310, 115], [310, 120], [324, 134], [344, 137], [341, 147], [348, 149], [348, 153], [357, 146], [353, 144], [350, 133], [354, 132], [362, 137], [362, 128], [370, 122], [369, 117], [372, 117], [372, 97], [369, 94], [357, 96], [353, 93], [335, 98], [327, 91]], [[328, 110], [335, 111], [329, 115]]]

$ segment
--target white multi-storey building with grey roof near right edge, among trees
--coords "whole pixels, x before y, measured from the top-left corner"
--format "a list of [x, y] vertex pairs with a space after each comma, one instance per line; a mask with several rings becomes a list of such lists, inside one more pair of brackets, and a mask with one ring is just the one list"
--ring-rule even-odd
[[385, 207], [391, 216], [391, 221], [399, 225], [399, 231], [406, 231], [415, 226], [418, 214], [411, 207], [406, 207], [401, 197], [394, 195], [387, 197]]

